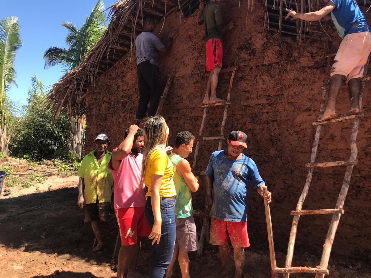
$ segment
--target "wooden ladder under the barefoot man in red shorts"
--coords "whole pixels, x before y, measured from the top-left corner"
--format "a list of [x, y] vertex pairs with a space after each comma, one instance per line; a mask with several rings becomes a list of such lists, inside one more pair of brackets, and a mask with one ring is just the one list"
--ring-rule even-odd
[[[200, 149], [201, 140], [219, 140], [218, 150], [221, 150], [221, 145], [222, 145], [223, 141], [226, 140], [226, 138], [224, 137], [224, 126], [226, 125], [226, 120], [227, 120], [228, 105], [231, 104], [230, 95], [231, 95], [233, 79], [234, 79], [234, 75], [236, 74], [236, 71], [237, 71], [237, 66], [234, 66], [234, 67], [229, 67], [229, 68], [226, 68], [226, 69], [222, 69], [221, 72], [220, 72], [220, 73], [232, 72], [232, 75], [231, 75], [230, 81], [229, 81], [228, 92], [227, 92], [227, 100], [223, 101], [223, 102], [210, 103], [210, 104], [206, 104], [206, 105], [201, 106], [201, 107], [204, 108], [204, 114], [203, 114], [203, 117], [202, 117], [200, 130], [198, 131], [196, 148], [194, 150], [192, 172], [196, 168], [198, 150]], [[223, 120], [221, 122], [221, 127], [220, 127], [220, 136], [203, 137], [203, 131], [204, 131], [204, 126], [205, 126], [205, 122], [206, 122], [206, 118], [207, 118], [207, 112], [209, 111], [209, 107], [215, 107], [215, 106], [220, 106], [220, 105], [224, 105], [224, 114], [223, 114]], [[202, 175], [203, 172], [200, 172], [200, 174]], [[209, 208], [207, 207], [207, 196], [209, 194], [211, 194], [211, 188], [209, 188], [209, 186], [207, 186], [207, 185], [206, 185], [206, 191], [207, 191], [207, 194], [206, 194], [206, 198], [205, 198], [205, 209], [203, 211], [197, 211], [197, 210], [193, 211], [193, 215], [201, 216], [203, 218], [203, 225], [202, 225], [201, 235], [200, 235], [200, 245], [199, 245], [199, 248], [198, 248], [198, 251], [197, 251], [197, 256], [198, 257], [202, 254], [203, 243], [204, 243], [205, 237], [206, 237], [206, 241], [209, 241], [209, 236], [210, 236], [210, 233], [209, 233], [210, 219], [209, 219]]]

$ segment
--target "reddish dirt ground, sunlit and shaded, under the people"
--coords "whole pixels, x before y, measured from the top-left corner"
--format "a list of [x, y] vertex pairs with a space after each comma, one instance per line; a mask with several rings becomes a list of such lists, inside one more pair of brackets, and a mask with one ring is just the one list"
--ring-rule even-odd
[[[76, 205], [77, 176], [51, 176], [30, 188], [11, 187], [12, 193], [0, 198], [0, 277], [1, 278], [108, 278], [115, 275], [116, 259], [112, 258], [118, 227], [114, 217], [103, 225], [105, 248], [91, 252], [94, 240], [89, 224], [83, 223], [83, 211]], [[52, 201], [52, 202], [50, 202]], [[49, 203], [47, 203], [49, 202]], [[45, 204], [47, 203], [47, 204]], [[38, 209], [26, 212], [29, 209]], [[244, 277], [270, 277], [269, 251], [266, 238], [251, 234], [252, 242], [264, 242], [246, 249]], [[190, 254], [191, 277], [216, 277], [221, 272], [217, 248], [206, 244], [197, 259]], [[138, 272], [148, 273], [150, 243], [142, 242]], [[318, 253], [320, 255], [320, 253]], [[307, 253], [295, 253], [296, 265], [316, 266], [319, 259]], [[283, 266], [285, 254], [276, 253], [277, 263]], [[232, 264], [232, 258], [231, 258]], [[329, 278], [368, 278], [370, 265], [365, 262], [331, 259]], [[313, 276], [313, 275], [312, 275]], [[292, 277], [312, 277], [298, 274]], [[181, 277], [179, 267], [175, 277]]]

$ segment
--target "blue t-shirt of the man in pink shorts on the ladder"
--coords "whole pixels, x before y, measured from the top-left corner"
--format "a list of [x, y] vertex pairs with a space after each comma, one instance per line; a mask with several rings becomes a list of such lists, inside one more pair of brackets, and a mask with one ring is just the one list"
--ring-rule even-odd
[[330, 1], [335, 4], [331, 17], [341, 38], [348, 34], [371, 31], [364, 14], [354, 0]]

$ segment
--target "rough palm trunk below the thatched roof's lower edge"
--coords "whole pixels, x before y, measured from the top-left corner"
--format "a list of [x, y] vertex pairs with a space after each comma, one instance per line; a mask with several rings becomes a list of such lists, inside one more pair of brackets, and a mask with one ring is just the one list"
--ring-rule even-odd
[[80, 118], [71, 117], [71, 130], [70, 130], [70, 139], [68, 141], [68, 148], [75, 152], [76, 155], [81, 159], [82, 150], [84, 146], [84, 126], [85, 126], [85, 115], [82, 115]]

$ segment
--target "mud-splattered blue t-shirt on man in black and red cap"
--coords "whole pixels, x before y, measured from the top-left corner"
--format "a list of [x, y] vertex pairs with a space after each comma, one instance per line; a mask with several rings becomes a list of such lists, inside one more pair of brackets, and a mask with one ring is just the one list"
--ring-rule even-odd
[[251, 181], [256, 189], [264, 184], [255, 162], [246, 155], [233, 161], [224, 156], [224, 150], [219, 150], [210, 156], [205, 175], [214, 178], [211, 217], [231, 222], [247, 221], [247, 185]]

